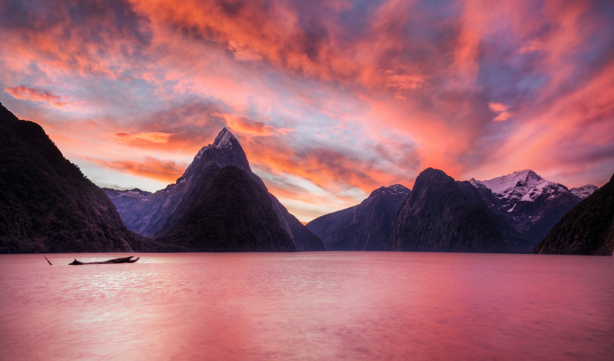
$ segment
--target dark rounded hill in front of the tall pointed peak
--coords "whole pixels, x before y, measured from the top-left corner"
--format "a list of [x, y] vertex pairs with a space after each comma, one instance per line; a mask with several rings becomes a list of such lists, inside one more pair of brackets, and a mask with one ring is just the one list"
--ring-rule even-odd
[[198, 252], [291, 252], [297, 250], [278, 222], [271, 198], [233, 166], [201, 161], [206, 176], [158, 231], [161, 243]]

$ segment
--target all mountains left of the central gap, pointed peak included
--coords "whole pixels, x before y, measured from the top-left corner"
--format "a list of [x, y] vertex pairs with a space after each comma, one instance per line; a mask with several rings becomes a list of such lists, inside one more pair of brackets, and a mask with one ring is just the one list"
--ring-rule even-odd
[[[41, 126], [0, 105], [0, 130], [2, 253], [295, 251], [281, 219], [298, 244], [324, 249], [274, 203], [226, 129], [201, 149], [178, 184], [156, 193], [111, 192], [123, 214], [140, 212], [131, 222], [157, 233], [155, 239], [128, 230], [109, 196], [63, 157]], [[155, 208], [139, 208], [152, 201]]]

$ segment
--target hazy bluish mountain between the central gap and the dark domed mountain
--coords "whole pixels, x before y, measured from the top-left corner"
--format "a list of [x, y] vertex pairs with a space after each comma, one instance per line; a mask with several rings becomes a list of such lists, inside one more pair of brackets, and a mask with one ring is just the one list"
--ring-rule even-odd
[[392, 219], [411, 191], [400, 184], [380, 187], [356, 206], [307, 223], [327, 250], [392, 250]]

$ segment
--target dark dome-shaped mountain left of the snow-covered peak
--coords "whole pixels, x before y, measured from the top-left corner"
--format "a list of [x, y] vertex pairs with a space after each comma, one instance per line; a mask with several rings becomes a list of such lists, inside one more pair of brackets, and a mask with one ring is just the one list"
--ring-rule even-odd
[[427, 168], [392, 222], [394, 250], [507, 252], [488, 212], [472, 204], [452, 177]]

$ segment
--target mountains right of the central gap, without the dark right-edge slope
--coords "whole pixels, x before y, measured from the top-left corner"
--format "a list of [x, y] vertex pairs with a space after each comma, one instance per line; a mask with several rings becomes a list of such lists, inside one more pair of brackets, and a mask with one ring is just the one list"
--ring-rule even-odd
[[[529, 253], [554, 223], [599, 188], [569, 190], [530, 169], [461, 182], [428, 168], [412, 191], [403, 187], [397, 196], [378, 196], [387, 189], [381, 187], [362, 203], [323, 215], [307, 227], [328, 250]], [[378, 239], [378, 246], [372, 239]]]

